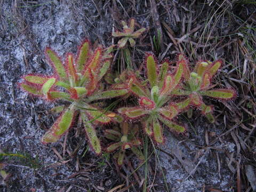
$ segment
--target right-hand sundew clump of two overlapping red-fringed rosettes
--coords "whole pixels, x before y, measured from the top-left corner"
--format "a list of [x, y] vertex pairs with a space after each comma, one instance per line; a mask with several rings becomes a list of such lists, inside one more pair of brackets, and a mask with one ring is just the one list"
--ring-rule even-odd
[[175, 133], [185, 133], [185, 127], [175, 123], [175, 119], [189, 107], [197, 107], [213, 123], [213, 107], [205, 105], [202, 97], [229, 100], [236, 96], [234, 89], [210, 89], [221, 63], [198, 61], [190, 71], [186, 57], [178, 54], [176, 69], [170, 72], [169, 61], [159, 65], [154, 55], [148, 53], [144, 63], [146, 81], [131, 74], [123, 85], [138, 98], [138, 106], [119, 108], [118, 113], [126, 119], [140, 119], [145, 132], [157, 143], [164, 142], [163, 125]]

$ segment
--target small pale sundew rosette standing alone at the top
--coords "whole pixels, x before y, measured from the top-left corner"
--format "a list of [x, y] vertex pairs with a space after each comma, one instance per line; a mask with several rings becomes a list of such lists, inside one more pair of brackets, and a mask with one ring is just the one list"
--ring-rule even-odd
[[137, 31], [134, 31], [135, 22], [136, 20], [134, 18], [130, 19], [129, 24], [127, 24], [127, 22], [125, 21], [121, 21], [123, 31], [121, 32], [116, 30], [112, 33], [113, 37], [122, 37], [117, 43], [119, 49], [122, 49], [127, 44], [127, 42], [129, 42], [130, 45], [133, 47], [136, 44], [134, 39], [141, 37], [142, 33], [146, 31], [146, 28], [144, 27], [140, 28]]

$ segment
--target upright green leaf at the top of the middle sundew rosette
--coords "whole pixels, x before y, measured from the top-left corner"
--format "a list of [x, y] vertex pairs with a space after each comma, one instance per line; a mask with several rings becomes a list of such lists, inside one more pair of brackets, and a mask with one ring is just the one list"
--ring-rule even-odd
[[147, 76], [150, 83], [150, 87], [157, 85], [157, 63], [153, 54], [148, 54], [146, 57]]

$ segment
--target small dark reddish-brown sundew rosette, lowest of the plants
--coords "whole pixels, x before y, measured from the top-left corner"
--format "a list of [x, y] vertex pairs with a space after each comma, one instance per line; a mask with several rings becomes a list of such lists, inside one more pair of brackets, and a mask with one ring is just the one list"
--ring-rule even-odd
[[114, 141], [105, 150], [107, 153], [117, 150], [113, 157], [117, 159], [119, 166], [124, 162], [126, 150], [131, 150], [141, 161], [145, 161], [145, 157], [139, 148], [142, 143], [139, 139], [138, 124], [123, 122], [120, 124], [120, 127], [114, 126], [113, 129], [105, 130], [105, 137]]

